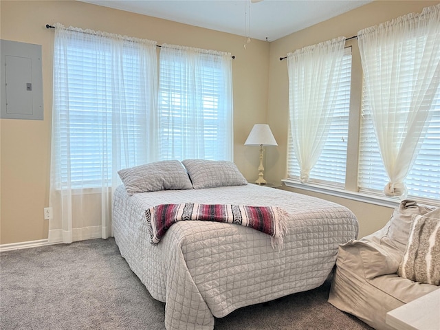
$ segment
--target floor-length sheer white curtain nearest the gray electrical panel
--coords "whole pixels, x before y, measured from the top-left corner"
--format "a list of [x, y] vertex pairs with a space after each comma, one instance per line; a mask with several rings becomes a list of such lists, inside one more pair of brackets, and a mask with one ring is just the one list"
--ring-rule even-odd
[[50, 242], [110, 236], [117, 171], [155, 159], [155, 48], [56, 24]]

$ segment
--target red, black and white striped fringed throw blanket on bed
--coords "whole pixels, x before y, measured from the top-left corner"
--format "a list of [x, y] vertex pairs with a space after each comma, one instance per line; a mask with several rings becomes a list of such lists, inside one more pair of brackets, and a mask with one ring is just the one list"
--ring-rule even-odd
[[182, 220], [204, 220], [236, 223], [260, 230], [271, 236], [272, 248], [283, 248], [286, 212], [272, 206], [239, 206], [230, 204], [162, 204], [145, 211], [151, 244], [156, 245], [173, 223]]

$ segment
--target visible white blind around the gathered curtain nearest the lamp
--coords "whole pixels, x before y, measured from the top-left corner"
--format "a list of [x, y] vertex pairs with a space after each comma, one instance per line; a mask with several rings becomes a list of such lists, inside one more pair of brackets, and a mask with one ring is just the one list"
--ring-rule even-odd
[[[310, 183], [329, 184], [344, 188], [347, 162], [347, 142], [349, 132], [350, 87], [351, 87], [351, 47], [344, 50], [342, 58], [340, 86], [337, 94], [336, 109], [318, 162], [310, 171]], [[289, 141], [292, 133], [289, 130]], [[296, 160], [294, 146], [289, 142], [287, 177], [297, 179], [300, 168]]]

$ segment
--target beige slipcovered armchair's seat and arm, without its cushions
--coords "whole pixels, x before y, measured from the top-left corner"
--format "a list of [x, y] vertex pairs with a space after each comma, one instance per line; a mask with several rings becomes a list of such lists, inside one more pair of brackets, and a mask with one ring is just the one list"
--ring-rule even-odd
[[[388, 311], [439, 287], [397, 276], [403, 252], [396, 247], [386, 247], [382, 237], [382, 232], [378, 236], [372, 234], [370, 241], [374, 239], [374, 243], [370, 249], [366, 249], [369, 241], [363, 241], [364, 244], [352, 241], [340, 246], [329, 303], [357, 316], [374, 329], [395, 330], [386, 325]], [[372, 255], [369, 250], [373, 251]]]

